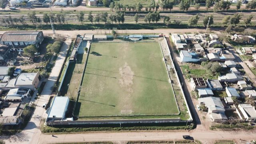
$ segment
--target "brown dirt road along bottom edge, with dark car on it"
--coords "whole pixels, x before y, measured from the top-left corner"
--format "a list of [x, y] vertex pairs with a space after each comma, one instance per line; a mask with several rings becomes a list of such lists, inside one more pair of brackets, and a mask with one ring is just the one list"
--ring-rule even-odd
[[52, 144], [61, 142], [104, 142], [111, 141], [116, 143], [124, 143], [127, 141], [160, 141], [160, 140], [181, 140], [182, 135], [190, 135], [195, 140], [200, 140], [203, 144], [213, 144], [215, 140], [235, 140], [239, 143], [239, 139], [253, 140], [256, 138], [255, 132], [252, 131], [172, 131], [172, 132], [99, 132], [84, 134], [42, 134], [39, 137], [38, 144]]

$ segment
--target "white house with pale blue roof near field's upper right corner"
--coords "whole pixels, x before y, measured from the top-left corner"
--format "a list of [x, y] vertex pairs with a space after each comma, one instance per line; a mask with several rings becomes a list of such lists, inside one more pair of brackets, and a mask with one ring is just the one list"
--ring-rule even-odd
[[180, 51], [181, 62], [198, 62], [200, 59], [194, 52], [188, 52], [187, 50]]

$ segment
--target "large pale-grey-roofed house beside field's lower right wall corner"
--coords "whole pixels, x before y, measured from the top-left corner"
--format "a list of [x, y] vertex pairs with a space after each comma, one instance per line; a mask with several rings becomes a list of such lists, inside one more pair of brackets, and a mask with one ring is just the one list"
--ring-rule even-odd
[[223, 122], [228, 120], [225, 115], [224, 105], [220, 98], [209, 96], [205, 98], [198, 98], [198, 102], [200, 105], [206, 106], [208, 114], [213, 122]]

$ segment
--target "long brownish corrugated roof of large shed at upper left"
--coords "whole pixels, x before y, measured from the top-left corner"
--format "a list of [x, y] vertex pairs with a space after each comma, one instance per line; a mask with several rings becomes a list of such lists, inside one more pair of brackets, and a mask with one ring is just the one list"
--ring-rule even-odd
[[37, 35], [40, 31], [14, 31], [5, 32], [0, 41], [4, 42], [31, 42], [36, 41]]

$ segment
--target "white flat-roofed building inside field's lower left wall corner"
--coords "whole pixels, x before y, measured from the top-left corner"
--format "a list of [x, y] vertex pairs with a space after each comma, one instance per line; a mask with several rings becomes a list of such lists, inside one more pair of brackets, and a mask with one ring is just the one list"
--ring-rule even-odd
[[54, 96], [46, 122], [63, 120], [68, 110], [68, 104], [68, 96]]

